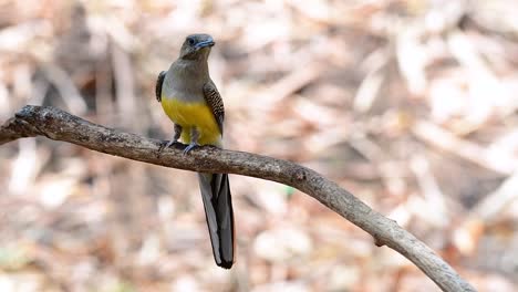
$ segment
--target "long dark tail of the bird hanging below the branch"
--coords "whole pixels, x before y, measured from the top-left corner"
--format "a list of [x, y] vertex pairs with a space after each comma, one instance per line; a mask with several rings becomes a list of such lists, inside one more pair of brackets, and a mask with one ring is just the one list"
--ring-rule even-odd
[[198, 174], [216, 264], [230, 269], [235, 257], [234, 210], [227, 174]]

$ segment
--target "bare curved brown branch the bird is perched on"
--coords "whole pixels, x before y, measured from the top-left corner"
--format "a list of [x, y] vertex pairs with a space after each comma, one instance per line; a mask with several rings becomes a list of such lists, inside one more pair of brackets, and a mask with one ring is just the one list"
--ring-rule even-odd
[[183, 155], [180, 145], [159, 152], [160, 140], [96, 125], [54, 107], [27, 105], [0, 126], [0, 145], [34, 136], [165, 167], [244, 175], [294, 187], [369, 232], [376, 246], [387, 246], [406, 257], [443, 291], [475, 291], [431, 248], [395, 221], [372, 210], [333, 181], [294, 163], [216, 147], [197, 148], [189, 155]]

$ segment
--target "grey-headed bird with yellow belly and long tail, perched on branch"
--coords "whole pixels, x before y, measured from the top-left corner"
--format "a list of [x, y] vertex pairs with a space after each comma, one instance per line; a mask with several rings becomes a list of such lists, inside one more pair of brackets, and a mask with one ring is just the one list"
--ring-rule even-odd
[[[178, 59], [158, 74], [157, 101], [174, 123], [174, 136], [164, 147], [182, 142], [184, 155], [203, 145], [222, 147], [225, 106], [210, 79], [208, 56], [215, 45], [205, 33], [188, 35]], [[235, 223], [228, 174], [198, 173], [213, 254], [218, 267], [235, 262]]]

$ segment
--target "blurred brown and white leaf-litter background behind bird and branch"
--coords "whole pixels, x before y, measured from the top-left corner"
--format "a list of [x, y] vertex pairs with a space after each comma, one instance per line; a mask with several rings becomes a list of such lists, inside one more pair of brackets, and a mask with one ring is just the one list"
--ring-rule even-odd
[[[52, 105], [168, 139], [155, 80], [213, 34], [226, 147], [320, 171], [479, 291], [518, 291], [515, 0], [0, 1], [0, 121]], [[193, 173], [42, 137], [0, 147], [0, 291], [438, 291], [289, 187], [231, 176], [214, 263]]]

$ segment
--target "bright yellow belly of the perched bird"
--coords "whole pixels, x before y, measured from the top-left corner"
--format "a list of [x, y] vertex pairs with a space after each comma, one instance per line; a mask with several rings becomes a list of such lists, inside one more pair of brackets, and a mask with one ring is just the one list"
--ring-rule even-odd
[[177, 98], [163, 97], [162, 107], [173, 123], [180, 125], [182, 142], [190, 143], [190, 131], [199, 132], [198, 144], [219, 145], [221, 133], [213, 112], [206, 103], [188, 103]]

